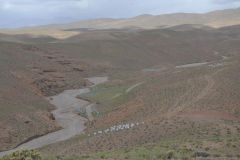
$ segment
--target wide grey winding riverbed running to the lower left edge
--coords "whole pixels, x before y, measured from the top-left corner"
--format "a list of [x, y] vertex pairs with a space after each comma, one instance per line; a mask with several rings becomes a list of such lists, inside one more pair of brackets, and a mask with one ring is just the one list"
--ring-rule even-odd
[[[108, 80], [107, 77], [93, 77], [87, 78], [94, 85], [104, 83]], [[93, 86], [94, 86], [93, 85]], [[88, 105], [89, 102], [76, 98], [78, 95], [90, 92], [89, 88], [66, 90], [59, 95], [48, 98], [51, 104], [57, 107], [52, 113], [63, 129], [49, 133], [45, 136], [33, 139], [26, 142], [13, 150], [0, 152], [0, 158], [16, 150], [24, 148], [36, 149], [49, 144], [67, 140], [75, 135], [81, 134], [86, 128], [84, 123], [87, 119], [74, 114], [73, 111], [77, 110], [80, 106]]]

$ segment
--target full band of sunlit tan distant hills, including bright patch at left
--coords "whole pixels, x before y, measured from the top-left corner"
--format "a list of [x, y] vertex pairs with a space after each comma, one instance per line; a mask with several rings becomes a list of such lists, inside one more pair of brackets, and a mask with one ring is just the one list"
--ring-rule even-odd
[[129, 19], [94, 19], [68, 24], [50, 24], [24, 27], [15, 30], [0, 30], [5, 34], [47, 35], [54, 38], [68, 38], [91, 30], [131, 31], [169, 28], [176, 31], [191, 29], [211, 30], [240, 24], [240, 8], [209, 12], [205, 14], [175, 13], [165, 15], [140, 15]]

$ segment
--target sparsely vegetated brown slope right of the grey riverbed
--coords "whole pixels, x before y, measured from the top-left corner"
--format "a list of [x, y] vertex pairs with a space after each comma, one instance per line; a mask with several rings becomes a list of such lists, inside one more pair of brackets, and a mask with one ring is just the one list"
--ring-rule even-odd
[[[87, 98], [99, 103], [100, 114], [93, 114], [86, 133], [40, 151], [81, 154], [89, 159], [158, 159], [169, 152], [178, 158], [207, 154], [208, 158], [237, 159], [240, 103], [236, 70], [240, 66], [239, 60], [230, 61], [225, 66], [169, 68], [138, 73], [124, 81], [110, 79], [98, 90], [92, 89], [95, 96]], [[104, 133], [114, 125], [138, 122], [144, 125]]]

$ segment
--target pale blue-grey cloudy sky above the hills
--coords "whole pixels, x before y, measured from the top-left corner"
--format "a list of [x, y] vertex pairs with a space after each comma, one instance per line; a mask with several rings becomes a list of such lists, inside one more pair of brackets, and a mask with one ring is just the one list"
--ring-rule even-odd
[[240, 0], [0, 0], [0, 28], [238, 7]]

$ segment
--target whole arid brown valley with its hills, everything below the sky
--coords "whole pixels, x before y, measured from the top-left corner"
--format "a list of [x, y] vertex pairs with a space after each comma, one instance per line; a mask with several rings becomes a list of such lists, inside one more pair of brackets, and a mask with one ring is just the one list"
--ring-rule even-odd
[[239, 15], [0, 30], [0, 159], [240, 159]]

